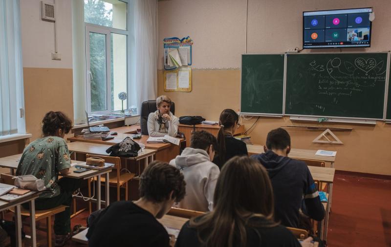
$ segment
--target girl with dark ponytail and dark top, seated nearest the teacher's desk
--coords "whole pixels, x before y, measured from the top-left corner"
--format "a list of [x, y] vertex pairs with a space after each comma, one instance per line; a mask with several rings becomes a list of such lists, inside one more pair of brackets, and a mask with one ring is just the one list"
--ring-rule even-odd
[[221, 112], [218, 120], [220, 129], [217, 134], [217, 156], [213, 163], [222, 168], [225, 161], [234, 156], [248, 156], [246, 144], [234, 138], [235, 131], [240, 127], [239, 115], [232, 109], [225, 109]]

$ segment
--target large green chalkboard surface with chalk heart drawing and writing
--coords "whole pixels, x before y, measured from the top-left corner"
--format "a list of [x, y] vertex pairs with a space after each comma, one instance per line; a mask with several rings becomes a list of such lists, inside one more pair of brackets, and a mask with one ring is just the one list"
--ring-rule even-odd
[[383, 119], [387, 53], [288, 54], [285, 114]]

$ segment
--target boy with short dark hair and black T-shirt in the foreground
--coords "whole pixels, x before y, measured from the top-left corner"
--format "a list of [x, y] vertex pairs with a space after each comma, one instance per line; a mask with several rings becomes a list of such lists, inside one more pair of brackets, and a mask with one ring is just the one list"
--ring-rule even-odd
[[140, 177], [140, 199], [114, 202], [87, 232], [89, 247], [169, 247], [174, 245], [157, 220], [185, 196], [186, 183], [178, 169], [153, 161]]

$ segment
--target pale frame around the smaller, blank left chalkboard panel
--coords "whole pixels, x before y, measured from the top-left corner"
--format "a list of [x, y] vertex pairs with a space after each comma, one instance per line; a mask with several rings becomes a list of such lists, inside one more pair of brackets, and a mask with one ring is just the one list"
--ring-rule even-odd
[[[282, 113], [261, 113], [261, 112], [241, 112], [241, 89], [242, 89], [242, 58], [243, 55], [282, 55], [284, 57], [284, 66], [283, 66], [283, 81], [282, 81]], [[286, 53], [242, 53], [240, 54], [240, 113], [239, 115], [249, 115], [249, 116], [266, 116], [266, 117], [280, 117], [282, 118], [285, 113], [285, 86], [286, 86]]]

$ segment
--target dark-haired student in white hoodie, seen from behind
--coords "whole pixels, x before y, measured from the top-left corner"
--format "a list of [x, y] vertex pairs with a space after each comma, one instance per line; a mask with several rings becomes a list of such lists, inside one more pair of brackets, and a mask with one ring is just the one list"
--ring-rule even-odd
[[213, 160], [217, 150], [216, 137], [206, 131], [196, 131], [190, 148], [170, 161], [178, 168], [186, 182], [185, 198], [178, 207], [196, 211], [212, 211], [213, 195], [220, 170]]

